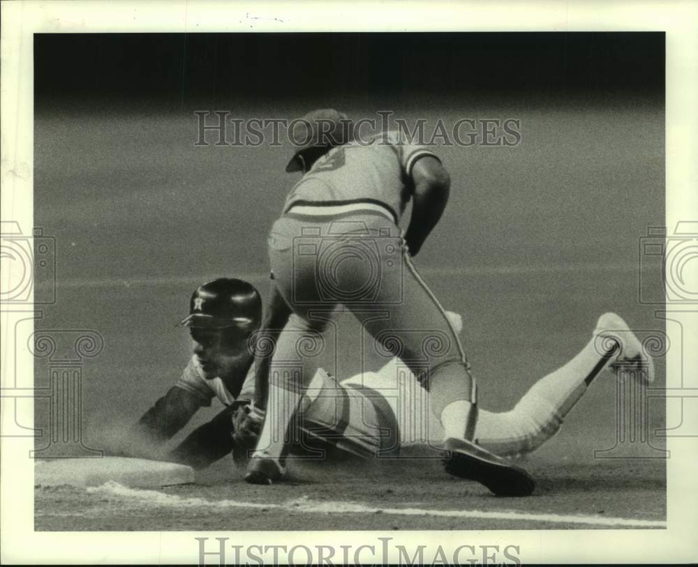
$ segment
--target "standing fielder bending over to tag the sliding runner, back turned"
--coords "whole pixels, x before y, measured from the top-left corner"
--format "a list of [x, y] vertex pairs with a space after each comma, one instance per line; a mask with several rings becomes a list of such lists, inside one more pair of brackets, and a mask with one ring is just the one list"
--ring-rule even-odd
[[[399, 356], [429, 391], [431, 413], [445, 431], [447, 472], [495, 494], [530, 494], [526, 471], [473, 443], [475, 381], [457, 333], [411, 259], [445, 209], [449, 175], [432, 151], [397, 133], [367, 140], [352, 134], [352, 123], [334, 109], [313, 111], [292, 130], [304, 144], [286, 171], [303, 176], [269, 234], [275, 285], [263, 328], [275, 350], [258, 359], [257, 389], [268, 382], [269, 402], [246, 480], [271, 484], [285, 474], [317, 357], [304, 357], [299, 372], [288, 372], [287, 361], [297, 359], [302, 341], [317, 340], [343, 305], [376, 348]], [[403, 237], [399, 222], [410, 200]]]

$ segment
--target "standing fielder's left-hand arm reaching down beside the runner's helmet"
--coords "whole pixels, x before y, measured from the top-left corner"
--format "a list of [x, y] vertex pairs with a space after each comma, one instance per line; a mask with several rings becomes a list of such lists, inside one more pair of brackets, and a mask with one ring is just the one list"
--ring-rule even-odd
[[[258, 342], [255, 345], [255, 398], [254, 406], [260, 410], [267, 407], [267, 395], [269, 393], [269, 365], [272, 363], [274, 349], [268, 348], [276, 345], [281, 330], [288, 322], [291, 309], [283, 296], [272, 288], [272, 298], [269, 301], [269, 310], [258, 333]], [[261, 354], [263, 353], [263, 356]], [[260, 356], [258, 356], [260, 354]]]

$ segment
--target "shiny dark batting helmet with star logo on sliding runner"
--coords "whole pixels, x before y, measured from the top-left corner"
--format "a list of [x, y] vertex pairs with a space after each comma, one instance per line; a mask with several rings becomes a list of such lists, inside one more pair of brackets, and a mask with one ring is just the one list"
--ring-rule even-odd
[[262, 299], [243, 280], [218, 278], [197, 287], [189, 301], [189, 315], [179, 326], [254, 331], [262, 320]]

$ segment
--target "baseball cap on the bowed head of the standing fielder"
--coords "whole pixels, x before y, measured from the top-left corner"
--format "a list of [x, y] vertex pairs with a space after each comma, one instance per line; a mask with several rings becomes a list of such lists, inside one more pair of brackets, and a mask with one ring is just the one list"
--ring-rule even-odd
[[332, 148], [351, 142], [352, 122], [343, 112], [334, 108], [321, 108], [294, 120], [289, 132], [290, 140], [296, 144], [286, 172], [302, 171], [303, 165], [298, 154], [312, 147]]

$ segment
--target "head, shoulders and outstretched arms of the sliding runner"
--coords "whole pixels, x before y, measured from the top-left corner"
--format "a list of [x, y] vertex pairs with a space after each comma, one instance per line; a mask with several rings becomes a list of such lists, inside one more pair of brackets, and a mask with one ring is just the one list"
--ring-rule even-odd
[[[208, 467], [235, 448], [232, 420], [254, 396], [254, 357], [248, 340], [262, 320], [257, 289], [242, 280], [219, 278], [200, 285], [179, 322], [189, 328], [193, 354], [177, 382], [140, 418], [112, 453]], [[202, 407], [217, 398], [223, 410], [196, 428], [172, 451], [165, 442]], [[240, 414], [244, 416], [245, 414]]]

